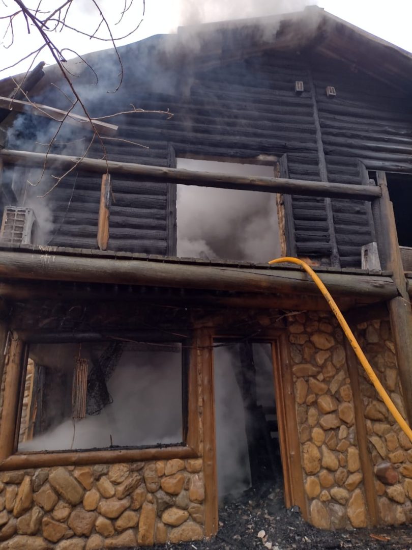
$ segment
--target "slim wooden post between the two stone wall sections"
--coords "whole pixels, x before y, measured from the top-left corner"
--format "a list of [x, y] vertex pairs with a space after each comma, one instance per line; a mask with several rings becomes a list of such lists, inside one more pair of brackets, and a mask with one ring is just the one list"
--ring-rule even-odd
[[359, 458], [363, 474], [366, 503], [368, 504], [369, 518], [372, 525], [378, 524], [378, 505], [375, 489], [374, 464], [368, 449], [368, 433], [366, 432], [364, 406], [359, 386], [358, 360], [352, 346], [345, 338], [345, 351], [347, 357], [350, 387], [353, 394], [353, 406], [355, 410], [355, 426], [359, 449]]

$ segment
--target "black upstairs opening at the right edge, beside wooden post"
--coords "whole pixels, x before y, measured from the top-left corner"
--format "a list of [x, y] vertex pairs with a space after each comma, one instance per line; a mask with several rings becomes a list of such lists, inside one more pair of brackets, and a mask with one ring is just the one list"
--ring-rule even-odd
[[[376, 172], [369, 172], [376, 181]], [[399, 246], [412, 247], [412, 174], [386, 172], [389, 197], [393, 204]]]

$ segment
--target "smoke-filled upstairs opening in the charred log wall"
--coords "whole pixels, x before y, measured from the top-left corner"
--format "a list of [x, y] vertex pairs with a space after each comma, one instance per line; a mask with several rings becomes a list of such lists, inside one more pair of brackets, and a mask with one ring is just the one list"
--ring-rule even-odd
[[[279, 163], [177, 158], [177, 168], [279, 177]], [[194, 182], [195, 183], [195, 182]], [[281, 254], [276, 194], [177, 185], [177, 256], [267, 262]]]

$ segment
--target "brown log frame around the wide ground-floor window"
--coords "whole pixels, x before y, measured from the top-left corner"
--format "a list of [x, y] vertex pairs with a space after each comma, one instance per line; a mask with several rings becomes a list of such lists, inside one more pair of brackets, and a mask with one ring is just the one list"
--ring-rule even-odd
[[[16, 451], [20, 415], [22, 409], [21, 388], [25, 381], [29, 344], [35, 339], [27, 337], [23, 340], [14, 334], [10, 344], [7, 371], [5, 375], [5, 392], [3, 412], [0, 425], [0, 471], [19, 470], [49, 466], [80, 466], [88, 464], [113, 464], [120, 462], [134, 462], [147, 460], [163, 460], [172, 458], [199, 458], [202, 456], [200, 419], [198, 410], [199, 378], [202, 370], [199, 369], [199, 334], [193, 331], [193, 346], [190, 359], [187, 361], [187, 406], [186, 418], [182, 418], [183, 444], [165, 445], [164, 447], [136, 447], [121, 449], [98, 450], [61, 450], [22, 453]], [[182, 361], [185, 371], [185, 361]], [[182, 376], [183, 378], [183, 376]]]

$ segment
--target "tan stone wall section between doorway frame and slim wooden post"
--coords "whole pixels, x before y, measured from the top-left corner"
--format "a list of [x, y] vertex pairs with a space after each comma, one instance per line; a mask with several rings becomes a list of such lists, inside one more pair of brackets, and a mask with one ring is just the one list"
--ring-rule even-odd
[[368, 525], [343, 332], [329, 313], [289, 318], [309, 520], [322, 529]]

